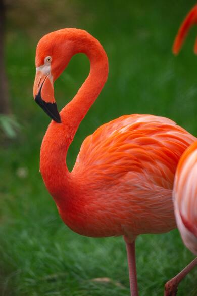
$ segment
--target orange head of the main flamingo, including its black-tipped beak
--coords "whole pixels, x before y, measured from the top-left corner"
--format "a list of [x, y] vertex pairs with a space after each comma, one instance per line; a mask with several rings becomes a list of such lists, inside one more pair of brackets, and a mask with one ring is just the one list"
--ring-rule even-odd
[[62, 29], [43, 36], [36, 48], [36, 75], [33, 97], [53, 120], [61, 123], [54, 98], [54, 81], [68, 65], [73, 53], [71, 29]]

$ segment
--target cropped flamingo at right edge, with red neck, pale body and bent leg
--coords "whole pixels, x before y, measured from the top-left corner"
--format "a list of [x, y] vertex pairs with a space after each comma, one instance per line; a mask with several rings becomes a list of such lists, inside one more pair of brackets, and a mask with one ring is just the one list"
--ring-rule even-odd
[[[173, 53], [177, 55], [181, 49], [189, 28], [197, 24], [197, 5], [184, 19], [173, 44]], [[197, 54], [197, 42], [194, 45]], [[174, 210], [178, 229], [186, 247], [197, 255], [197, 142], [194, 142], [181, 156], [173, 187]], [[165, 285], [165, 296], [176, 295], [180, 281], [197, 265], [195, 258], [178, 275]]]

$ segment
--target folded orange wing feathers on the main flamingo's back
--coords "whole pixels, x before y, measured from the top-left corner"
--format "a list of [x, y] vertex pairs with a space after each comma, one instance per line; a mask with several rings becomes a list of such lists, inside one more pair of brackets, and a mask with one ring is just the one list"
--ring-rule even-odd
[[125, 115], [102, 125], [85, 139], [73, 173], [80, 171], [93, 182], [96, 174], [120, 178], [137, 171], [150, 174], [152, 182], [160, 186], [172, 188], [177, 162], [194, 140], [168, 118]]

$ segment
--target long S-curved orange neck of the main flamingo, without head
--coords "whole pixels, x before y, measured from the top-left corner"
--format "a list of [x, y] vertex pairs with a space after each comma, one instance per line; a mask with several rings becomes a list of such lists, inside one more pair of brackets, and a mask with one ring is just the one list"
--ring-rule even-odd
[[[45, 186], [61, 206], [65, 198], [72, 199], [78, 187], [68, 171], [66, 156], [81, 120], [93, 104], [108, 77], [108, 58], [101, 44], [85, 31], [76, 31], [73, 54], [82, 52], [90, 61], [90, 72], [73, 100], [60, 112], [62, 123], [52, 121], [43, 138], [40, 151], [40, 172]], [[76, 182], [78, 180], [75, 180]], [[76, 189], [77, 190], [77, 189]], [[65, 204], [64, 204], [65, 205]]]

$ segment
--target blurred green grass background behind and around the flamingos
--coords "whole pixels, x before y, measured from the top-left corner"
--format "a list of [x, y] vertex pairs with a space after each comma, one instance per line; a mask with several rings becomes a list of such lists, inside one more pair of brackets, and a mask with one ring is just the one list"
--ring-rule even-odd
[[[122, 114], [166, 116], [197, 134], [196, 57], [193, 29], [178, 57], [171, 52], [177, 29], [195, 1], [6, 1], [5, 63], [17, 137], [1, 133], [0, 294], [2, 296], [129, 295], [123, 239], [79, 236], [61, 221], [39, 174], [40, 144], [50, 122], [32, 96], [35, 48], [47, 32], [87, 30], [109, 57], [109, 79], [81, 123], [69, 149], [71, 169], [83, 139]], [[59, 110], [89, 71], [73, 57], [55, 83]], [[142, 235], [136, 242], [140, 296], [163, 295], [164, 283], [193, 255], [177, 230]], [[97, 279], [98, 278], [98, 279]], [[179, 296], [197, 295], [197, 271], [180, 284]]]

